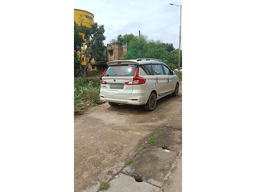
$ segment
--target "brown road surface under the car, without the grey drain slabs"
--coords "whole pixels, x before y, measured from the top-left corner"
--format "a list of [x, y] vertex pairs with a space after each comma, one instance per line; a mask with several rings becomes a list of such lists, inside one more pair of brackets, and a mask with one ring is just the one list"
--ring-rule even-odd
[[113, 180], [126, 160], [139, 156], [141, 146], [166, 126], [182, 130], [182, 84], [178, 97], [161, 98], [152, 112], [144, 106], [106, 103], [75, 116], [75, 192], [97, 192], [102, 182]]

